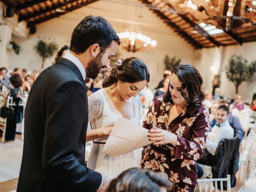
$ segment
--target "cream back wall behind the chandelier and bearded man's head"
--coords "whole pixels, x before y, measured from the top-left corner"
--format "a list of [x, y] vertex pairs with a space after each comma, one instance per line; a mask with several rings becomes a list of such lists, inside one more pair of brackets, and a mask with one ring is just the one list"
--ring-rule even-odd
[[[138, 3], [137, 0], [134, 0], [134, 2]], [[88, 15], [103, 16], [114, 26], [116, 32], [124, 32], [131, 25], [128, 22], [138, 22], [141, 32], [157, 41], [158, 46], [155, 49], [145, 52], [132, 53], [120, 50], [122, 58], [136, 56], [148, 64], [151, 87], [156, 86], [162, 79], [164, 71], [163, 60], [166, 54], [180, 56], [182, 61], [192, 63], [194, 54], [192, 46], [180, 38], [180, 36], [177, 36], [148, 8], [127, 6], [110, 1], [98, 1], [74, 12], [64, 14], [59, 18], [54, 18], [37, 25], [36, 34], [30, 35], [26, 40], [13, 37], [13, 40], [22, 46], [23, 51], [19, 55], [10, 53], [9, 68], [20, 67], [27, 70], [40, 70], [42, 60], [34, 50], [34, 45], [37, 41], [39, 39], [46, 42], [54, 41], [58, 44], [59, 48], [65, 44], [69, 46], [74, 27]], [[46, 59], [45, 67], [50, 66], [54, 58], [55, 55], [52, 58]]]

